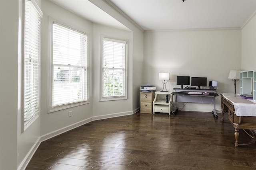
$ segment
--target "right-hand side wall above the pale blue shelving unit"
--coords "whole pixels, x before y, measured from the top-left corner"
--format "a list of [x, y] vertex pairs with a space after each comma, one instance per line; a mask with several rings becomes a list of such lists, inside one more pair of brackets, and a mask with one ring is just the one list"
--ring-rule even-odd
[[242, 29], [242, 71], [256, 70], [256, 16]]

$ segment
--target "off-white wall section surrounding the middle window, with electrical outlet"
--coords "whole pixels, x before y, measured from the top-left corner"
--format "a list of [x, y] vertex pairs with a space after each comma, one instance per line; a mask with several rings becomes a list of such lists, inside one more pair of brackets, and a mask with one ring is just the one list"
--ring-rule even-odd
[[[93, 40], [93, 25], [92, 22], [84, 20], [83, 18], [68, 12], [67, 10], [49, 2], [42, 1], [42, 12], [44, 14], [42, 19], [42, 64], [41, 64], [41, 135], [47, 135], [60, 129], [70, 129], [70, 126], [80, 121], [92, 120], [92, 80], [91, 80], [91, 65], [92, 65], [92, 40]], [[58, 21], [64, 25], [71, 26], [88, 35], [88, 63], [89, 63], [89, 104], [72, 107], [48, 113], [49, 102], [49, 84], [50, 84], [50, 18]], [[68, 117], [68, 111], [72, 111], [73, 116]], [[47, 138], [47, 137], [46, 137]]]

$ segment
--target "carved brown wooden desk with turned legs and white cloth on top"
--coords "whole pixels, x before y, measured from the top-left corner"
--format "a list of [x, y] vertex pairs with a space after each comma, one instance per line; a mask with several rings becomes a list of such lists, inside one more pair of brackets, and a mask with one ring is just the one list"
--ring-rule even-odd
[[[253, 130], [256, 129], [256, 103], [251, 100], [241, 98], [238, 94], [220, 94], [221, 115], [223, 121], [224, 113], [228, 113], [228, 120], [235, 128], [235, 146], [249, 145], [256, 141], [256, 134]], [[237, 107], [238, 106], [238, 107]], [[248, 110], [248, 108], [251, 108]], [[248, 111], [250, 113], [248, 113]], [[238, 116], [239, 115], [239, 116]], [[247, 143], [238, 143], [239, 129], [248, 129], [245, 131], [252, 140]]]

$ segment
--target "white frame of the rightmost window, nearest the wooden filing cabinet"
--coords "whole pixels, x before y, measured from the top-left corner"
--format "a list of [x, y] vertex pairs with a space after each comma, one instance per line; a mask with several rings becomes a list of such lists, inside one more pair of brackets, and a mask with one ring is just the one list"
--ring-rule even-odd
[[[110, 96], [110, 97], [104, 97], [103, 96], [103, 89], [104, 89], [104, 84], [103, 84], [103, 41], [104, 40], [109, 40], [109, 41], [114, 41], [114, 42], [119, 42], [119, 43], [124, 43], [125, 44], [125, 58], [124, 58], [124, 96]], [[122, 40], [118, 38], [113, 38], [113, 37], [108, 37], [105, 35], [100, 36], [100, 96], [99, 96], [99, 101], [112, 101], [112, 100], [126, 100], [127, 99], [127, 80], [128, 80], [128, 74], [127, 74], [127, 69], [128, 69], [128, 41], [127, 40]]]

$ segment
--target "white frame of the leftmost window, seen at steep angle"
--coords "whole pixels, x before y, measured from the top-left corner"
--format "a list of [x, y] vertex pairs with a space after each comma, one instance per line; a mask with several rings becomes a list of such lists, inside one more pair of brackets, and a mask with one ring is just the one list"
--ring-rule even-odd
[[[26, 35], [25, 35], [25, 31], [26, 31], [26, 3], [31, 3], [32, 6], [34, 7], [35, 11], [38, 13], [36, 17], [39, 17], [39, 18], [42, 18], [43, 16], [43, 13], [41, 11], [41, 9], [39, 8], [39, 6], [37, 5], [37, 3], [35, 2], [35, 0], [24, 0], [23, 1], [23, 34], [22, 34], [22, 133], [24, 131], [26, 131], [26, 129], [28, 129], [28, 127], [30, 127], [30, 125], [32, 125], [32, 123], [34, 123], [34, 121], [39, 117], [39, 114], [40, 114], [40, 72], [41, 72], [41, 67], [40, 67], [40, 63], [41, 63], [41, 25], [39, 22], [38, 25], [39, 25], [39, 37], [38, 37], [38, 42], [39, 42], [39, 45], [38, 45], [38, 57], [37, 57], [37, 60], [38, 60], [38, 69], [37, 69], [37, 73], [38, 73], [38, 76], [36, 77], [36, 81], [37, 81], [37, 86], [38, 86], [38, 90], [36, 91], [38, 93], [38, 101], [36, 102], [37, 104], [37, 113], [34, 113], [32, 115], [32, 117], [30, 117], [26, 122], [25, 122], [25, 94], [26, 94], [26, 90], [25, 90], [25, 78], [26, 78], [26, 71], [25, 71], [25, 65], [27, 62], [27, 59], [26, 59], [26, 45], [25, 45], [25, 38], [26, 38]], [[33, 8], [32, 7], [32, 8]], [[41, 20], [41, 19], [40, 19]], [[34, 59], [32, 59], [33, 61]], [[29, 61], [30, 62], [30, 61]], [[34, 62], [31, 62], [31, 63], [34, 63]], [[34, 78], [34, 77], [33, 77]]]

